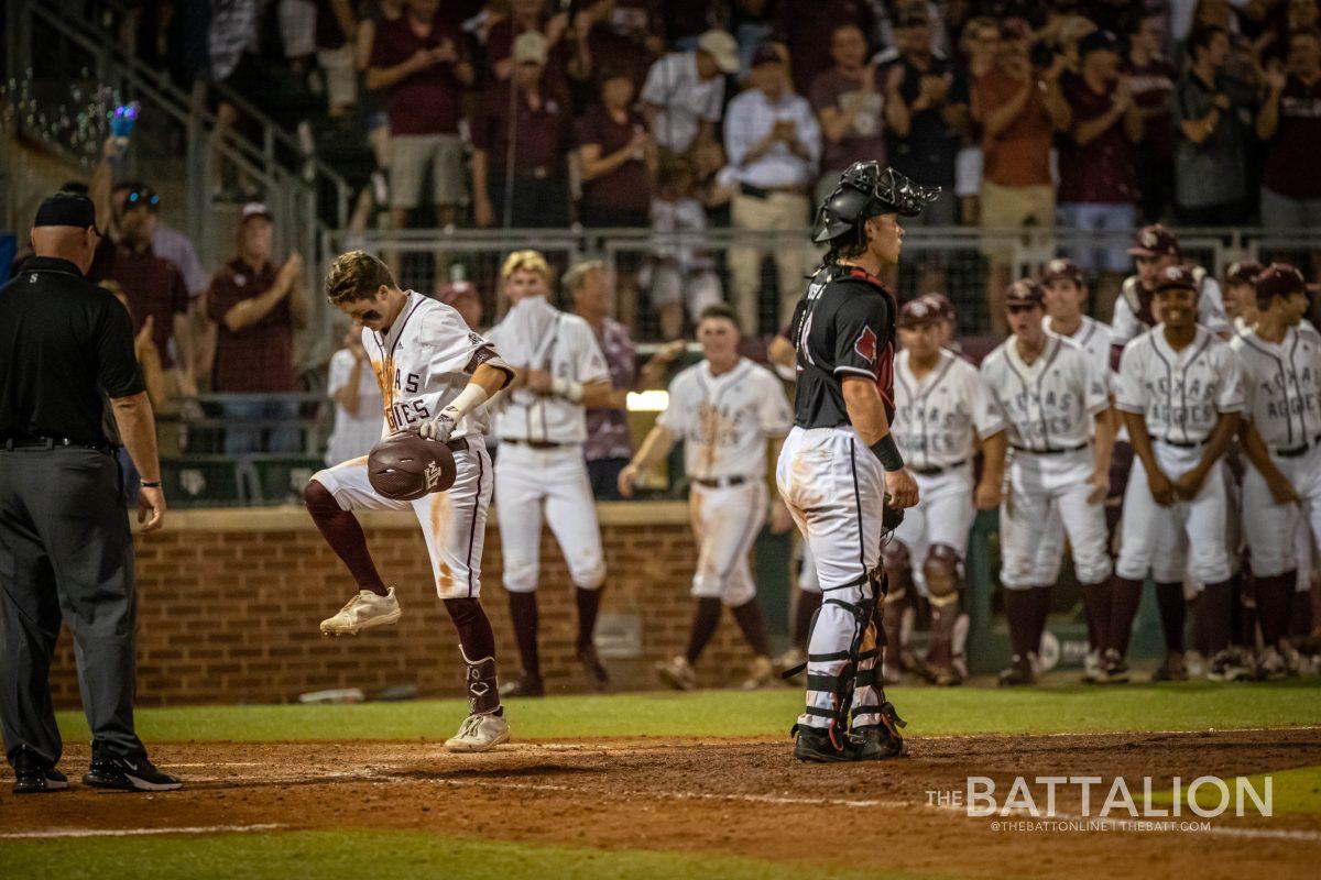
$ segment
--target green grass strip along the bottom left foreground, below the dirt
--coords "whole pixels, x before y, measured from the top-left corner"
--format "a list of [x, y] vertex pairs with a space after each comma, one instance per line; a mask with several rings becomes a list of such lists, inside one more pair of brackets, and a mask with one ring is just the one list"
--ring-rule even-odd
[[[520, 877], [647, 877], [650, 880], [802, 880], [873, 877], [873, 871], [830, 869], [818, 863], [769, 862], [709, 852], [590, 850], [490, 840], [464, 840], [394, 831], [291, 831], [209, 836], [5, 840], [0, 875], [44, 880], [518, 880]], [[937, 880], [947, 873], [888, 875]]]

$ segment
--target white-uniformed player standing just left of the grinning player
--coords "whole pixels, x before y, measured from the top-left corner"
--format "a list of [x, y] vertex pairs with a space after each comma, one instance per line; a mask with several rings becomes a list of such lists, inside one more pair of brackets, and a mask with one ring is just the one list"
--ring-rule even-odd
[[982, 361], [997, 412], [982, 430], [985, 464], [978, 507], [1000, 507], [1000, 583], [1013, 645], [1003, 685], [1034, 682], [1033, 657], [1059, 577], [1059, 553], [1046, 559], [1037, 551], [1042, 525], [1053, 516], [1062, 521], [1085, 591], [1103, 590], [1111, 577], [1102, 507], [1114, 441], [1110, 393], [1104, 375], [1078, 344], [1046, 334], [1044, 303], [1036, 281], [1009, 285], [1012, 335]]

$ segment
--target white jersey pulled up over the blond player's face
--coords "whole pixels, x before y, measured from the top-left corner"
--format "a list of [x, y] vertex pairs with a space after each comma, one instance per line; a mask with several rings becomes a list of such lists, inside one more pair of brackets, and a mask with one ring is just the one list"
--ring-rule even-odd
[[[610, 381], [605, 356], [590, 325], [553, 307], [544, 297], [526, 297], [514, 303], [505, 319], [486, 334], [501, 358], [515, 367], [542, 369], [576, 383]], [[501, 439], [546, 443], [587, 441], [587, 410], [583, 404], [526, 388], [506, 398], [495, 413]]]

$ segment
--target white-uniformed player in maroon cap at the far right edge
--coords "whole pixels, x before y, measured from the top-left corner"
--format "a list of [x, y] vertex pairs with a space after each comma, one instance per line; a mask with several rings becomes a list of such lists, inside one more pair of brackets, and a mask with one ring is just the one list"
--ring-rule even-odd
[[[1247, 534], [1264, 652], [1258, 672], [1288, 673], [1280, 640], [1289, 633], [1299, 578], [1300, 520], [1321, 541], [1321, 335], [1300, 329], [1306, 282], [1292, 265], [1272, 264], [1256, 280], [1255, 329], [1230, 348], [1243, 363], [1243, 475]], [[1301, 306], [1301, 307], [1300, 307]]]

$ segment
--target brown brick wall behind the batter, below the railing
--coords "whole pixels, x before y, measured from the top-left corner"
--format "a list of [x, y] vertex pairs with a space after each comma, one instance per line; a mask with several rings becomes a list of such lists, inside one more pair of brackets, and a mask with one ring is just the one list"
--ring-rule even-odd
[[[687, 644], [696, 558], [682, 503], [602, 504], [609, 567], [604, 613], [638, 615], [642, 657], [608, 660], [620, 687], [651, 687], [651, 664]], [[172, 512], [164, 532], [137, 544], [137, 699], [141, 706], [269, 703], [328, 687], [366, 691], [416, 683], [421, 695], [460, 695], [458, 641], [431, 587], [431, 563], [412, 515], [369, 513], [367, 540], [404, 608], [395, 627], [328, 639], [318, 624], [353, 582], [301, 508]], [[501, 583], [494, 516], [486, 534], [482, 599], [503, 677], [518, 672]], [[542, 666], [552, 691], [579, 691], [572, 583], [550, 532], [542, 542]], [[699, 665], [704, 683], [736, 681], [748, 653], [727, 613]], [[52, 670], [58, 706], [75, 707], [69, 633]]]

